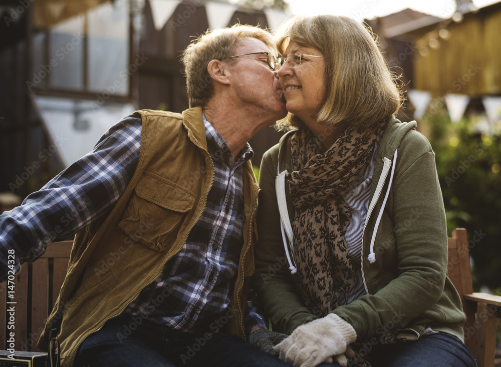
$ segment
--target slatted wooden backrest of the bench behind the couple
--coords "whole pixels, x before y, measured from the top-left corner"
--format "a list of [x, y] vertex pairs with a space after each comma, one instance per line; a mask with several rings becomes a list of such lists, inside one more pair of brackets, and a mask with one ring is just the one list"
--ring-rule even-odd
[[[466, 313], [465, 330], [473, 330], [475, 307], [464, 295], [473, 293], [466, 229], [456, 228], [447, 239], [447, 275], [461, 296]], [[9, 332], [15, 331], [15, 349], [40, 351], [37, 341], [52, 310], [68, 269], [73, 241], [55, 242], [47, 247], [46, 253], [33, 263], [24, 264], [14, 280], [14, 298], [9, 297], [9, 282], [0, 284], [0, 349], [8, 349]], [[16, 302], [9, 303], [9, 302]], [[13, 318], [8, 307], [14, 306]], [[10, 322], [14, 320], [14, 328]], [[475, 337], [465, 332], [465, 343], [476, 356]]]

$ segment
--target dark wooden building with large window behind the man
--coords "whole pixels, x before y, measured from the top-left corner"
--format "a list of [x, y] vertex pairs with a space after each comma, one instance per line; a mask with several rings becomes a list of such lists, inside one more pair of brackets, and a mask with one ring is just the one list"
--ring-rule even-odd
[[[9, 0], [0, 16], [0, 192], [22, 197], [134, 110], [186, 109], [179, 56], [194, 36], [287, 18], [226, 0]], [[279, 137], [251, 140], [255, 165]]]

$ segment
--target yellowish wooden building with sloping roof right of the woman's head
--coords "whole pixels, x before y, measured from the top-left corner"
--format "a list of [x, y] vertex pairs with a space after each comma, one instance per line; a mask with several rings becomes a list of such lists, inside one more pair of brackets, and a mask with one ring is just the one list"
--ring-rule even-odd
[[456, 1], [453, 15], [444, 18], [405, 10], [367, 23], [390, 67], [403, 74], [404, 89], [435, 99], [428, 110], [446, 108], [455, 99], [462, 106], [459, 111], [448, 106], [451, 119], [466, 110], [486, 113], [492, 125], [501, 117], [501, 3], [476, 9], [468, 0]]

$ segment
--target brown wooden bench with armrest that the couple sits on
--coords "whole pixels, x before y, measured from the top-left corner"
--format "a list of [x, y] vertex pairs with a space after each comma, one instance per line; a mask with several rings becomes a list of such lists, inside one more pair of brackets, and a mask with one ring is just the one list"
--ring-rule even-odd
[[[25, 264], [16, 275], [13, 300], [7, 298], [7, 282], [0, 284], [0, 314], [6, 315], [7, 302], [17, 302], [14, 324], [16, 350], [40, 350], [36, 343], [63, 284], [72, 243], [52, 243], [40, 259]], [[448, 253], [447, 273], [461, 295], [466, 313], [465, 343], [475, 356], [478, 367], [491, 367], [494, 365], [496, 321], [501, 317], [501, 297], [473, 293], [468, 239], [464, 228], [452, 231], [452, 237], [448, 238]], [[6, 317], [0, 319], [0, 349], [7, 349], [7, 322]]]

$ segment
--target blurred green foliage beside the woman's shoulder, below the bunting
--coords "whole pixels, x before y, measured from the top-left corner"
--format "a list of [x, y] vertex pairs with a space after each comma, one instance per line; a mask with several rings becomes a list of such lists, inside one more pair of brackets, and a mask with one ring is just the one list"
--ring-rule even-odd
[[473, 260], [475, 289], [501, 286], [501, 121], [487, 132], [475, 119], [453, 124], [438, 112], [424, 121], [435, 152], [447, 228], [464, 227]]

